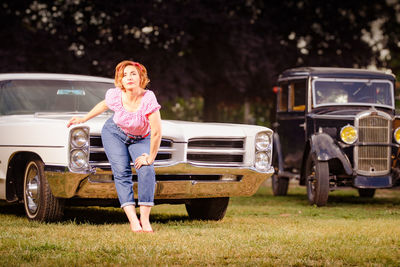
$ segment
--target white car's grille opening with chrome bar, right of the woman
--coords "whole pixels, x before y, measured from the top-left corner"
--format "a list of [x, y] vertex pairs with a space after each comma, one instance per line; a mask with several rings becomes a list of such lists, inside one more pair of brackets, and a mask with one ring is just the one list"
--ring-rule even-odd
[[240, 166], [245, 155], [244, 139], [190, 139], [187, 160], [191, 164]]

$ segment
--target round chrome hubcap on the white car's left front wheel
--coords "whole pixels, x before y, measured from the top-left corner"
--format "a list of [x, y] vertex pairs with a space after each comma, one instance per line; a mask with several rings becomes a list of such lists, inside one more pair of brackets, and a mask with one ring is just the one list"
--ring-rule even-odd
[[39, 205], [39, 187], [40, 181], [38, 170], [34, 164], [29, 167], [25, 180], [25, 200], [26, 206], [31, 214], [36, 213]]

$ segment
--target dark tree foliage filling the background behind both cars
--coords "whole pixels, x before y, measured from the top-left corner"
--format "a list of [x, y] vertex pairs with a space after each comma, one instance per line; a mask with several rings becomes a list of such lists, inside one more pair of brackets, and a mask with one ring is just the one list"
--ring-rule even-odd
[[0, 70], [112, 77], [132, 59], [149, 68], [161, 101], [202, 96], [203, 119], [218, 121], [220, 105], [272, 109], [270, 88], [286, 68], [399, 71], [398, 10], [397, 0], [6, 0]]

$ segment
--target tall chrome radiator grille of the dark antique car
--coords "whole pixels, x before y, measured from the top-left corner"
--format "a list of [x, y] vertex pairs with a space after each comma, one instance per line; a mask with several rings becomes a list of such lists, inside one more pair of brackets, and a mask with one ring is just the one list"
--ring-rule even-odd
[[[358, 146], [355, 147], [357, 173], [377, 176], [390, 170], [391, 120], [386, 114], [370, 112], [356, 119]], [[357, 125], [358, 124], [358, 125]]]

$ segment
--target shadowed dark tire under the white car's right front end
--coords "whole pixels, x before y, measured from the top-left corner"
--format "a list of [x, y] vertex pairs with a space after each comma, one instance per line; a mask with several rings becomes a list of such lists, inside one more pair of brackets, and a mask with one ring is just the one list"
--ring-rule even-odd
[[224, 218], [229, 197], [192, 199], [186, 204], [189, 217], [194, 220], [214, 220]]

